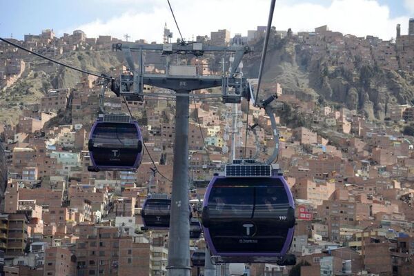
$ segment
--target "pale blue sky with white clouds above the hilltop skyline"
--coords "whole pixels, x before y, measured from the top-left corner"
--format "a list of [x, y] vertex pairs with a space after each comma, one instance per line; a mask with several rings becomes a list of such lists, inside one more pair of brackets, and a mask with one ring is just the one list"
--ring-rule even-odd
[[[211, 31], [247, 30], [266, 26], [270, 0], [170, 0], [177, 23], [187, 41]], [[83, 30], [87, 37], [109, 34], [129, 41], [161, 43], [164, 24], [179, 37], [167, 0], [0, 0], [0, 37], [23, 39], [52, 28], [57, 36]], [[414, 0], [277, 0], [273, 26], [277, 30], [312, 31], [328, 25], [333, 31], [358, 37], [395, 37], [395, 26], [408, 32]]]

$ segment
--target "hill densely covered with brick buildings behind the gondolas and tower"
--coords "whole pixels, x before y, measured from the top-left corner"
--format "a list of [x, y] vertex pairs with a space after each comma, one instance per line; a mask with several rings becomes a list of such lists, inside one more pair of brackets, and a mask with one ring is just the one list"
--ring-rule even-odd
[[[414, 121], [411, 37], [381, 41], [326, 26], [272, 32], [261, 93], [279, 95], [277, 162], [297, 206], [290, 253], [306, 265], [250, 264], [250, 275], [414, 275], [414, 138], [400, 128]], [[233, 39], [219, 30], [197, 41], [254, 46], [244, 70], [255, 77], [263, 36], [263, 28]], [[112, 43], [122, 41], [109, 36], [88, 38], [75, 30], [55, 37], [45, 30], [14, 42], [93, 72], [118, 76], [127, 69], [121, 54], [112, 52]], [[175, 101], [127, 99], [148, 148], [141, 166], [137, 172], [89, 172], [97, 77], [6, 43], [0, 52], [0, 274], [166, 275], [168, 232], [143, 232], [141, 210], [148, 193], [171, 193]], [[163, 72], [160, 59], [148, 55], [146, 70]], [[223, 66], [212, 56], [182, 61], [198, 74], [220, 74]], [[236, 157], [257, 152], [264, 160], [275, 146], [272, 128], [264, 110], [248, 108], [250, 103], [242, 101], [242, 124], [233, 131]], [[104, 107], [128, 113], [121, 97], [108, 95]], [[208, 181], [230, 158], [225, 148], [233, 114], [220, 101], [190, 102], [193, 217]], [[246, 133], [247, 119], [258, 125], [255, 135]], [[189, 250], [204, 248], [204, 239], [195, 239]]]

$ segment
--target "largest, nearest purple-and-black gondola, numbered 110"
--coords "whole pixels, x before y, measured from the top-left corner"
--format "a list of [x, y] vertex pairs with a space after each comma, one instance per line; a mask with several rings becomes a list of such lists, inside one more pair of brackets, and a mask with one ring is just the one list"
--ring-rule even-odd
[[214, 261], [286, 264], [294, 208], [286, 180], [270, 165], [227, 165], [204, 195], [204, 238]]

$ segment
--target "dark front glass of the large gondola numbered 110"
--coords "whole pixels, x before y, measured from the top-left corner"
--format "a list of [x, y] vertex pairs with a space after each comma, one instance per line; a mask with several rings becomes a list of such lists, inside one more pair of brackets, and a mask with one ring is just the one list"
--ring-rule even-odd
[[228, 248], [233, 253], [282, 250], [293, 227], [288, 194], [279, 179], [256, 181], [251, 184], [247, 178], [219, 179], [213, 186], [206, 215], [218, 252], [228, 252]]

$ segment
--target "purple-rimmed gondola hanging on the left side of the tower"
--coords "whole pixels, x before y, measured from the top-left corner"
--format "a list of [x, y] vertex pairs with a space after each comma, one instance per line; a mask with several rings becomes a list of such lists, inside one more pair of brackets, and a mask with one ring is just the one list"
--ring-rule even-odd
[[90, 130], [89, 171], [136, 170], [141, 164], [143, 147], [137, 121], [128, 115], [101, 115]]

